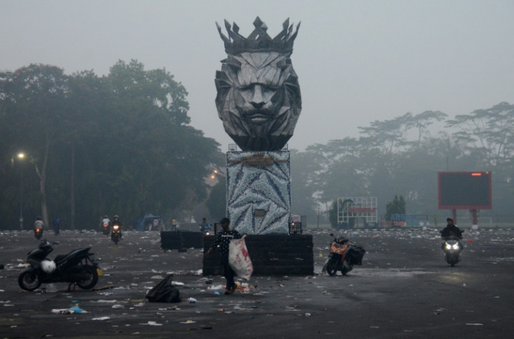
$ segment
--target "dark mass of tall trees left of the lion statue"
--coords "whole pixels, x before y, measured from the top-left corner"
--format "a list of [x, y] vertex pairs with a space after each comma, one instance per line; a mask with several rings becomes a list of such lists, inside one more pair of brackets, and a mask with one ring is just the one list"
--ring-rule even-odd
[[0, 73], [1, 227], [17, 228], [21, 208], [26, 228], [36, 216], [94, 228], [104, 214], [129, 224], [191, 213], [224, 157], [189, 126], [186, 96], [168, 71], [135, 60], [101, 77], [42, 64]]

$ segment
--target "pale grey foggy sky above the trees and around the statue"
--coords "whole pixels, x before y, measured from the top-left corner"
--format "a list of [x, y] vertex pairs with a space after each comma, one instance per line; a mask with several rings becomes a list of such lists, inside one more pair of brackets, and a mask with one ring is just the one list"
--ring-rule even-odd
[[[166, 68], [189, 92], [191, 125], [227, 151], [214, 98], [226, 57], [215, 22], [274, 37], [302, 22], [291, 60], [302, 114], [290, 149], [358, 137], [406, 112], [451, 117], [514, 102], [514, 1], [0, 0], [0, 70], [94, 70], [119, 59]], [[223, 33], [226, 33], [223, 28]]]

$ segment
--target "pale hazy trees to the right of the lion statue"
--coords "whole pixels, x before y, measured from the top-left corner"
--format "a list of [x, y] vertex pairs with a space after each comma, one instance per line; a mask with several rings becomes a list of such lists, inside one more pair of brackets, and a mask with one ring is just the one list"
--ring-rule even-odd
[[386, 220], [386, 207], [402, 196], [406, 213], [434, 223], [437, 215], [450, 215], [438, 210], [437, 172], [491, 171], [492, 210], [480, 216], [514, 222], [514, 105], [503, 102], [453, 118], [439, 111], [409, 112], [372, 121], [359, 132], [293, 151], [293, 212], [309, 211], [304, 214], [312, 223], [318, 211], [326, 211], [321, 217], [329, 222], [337, 197], [374, 196]]

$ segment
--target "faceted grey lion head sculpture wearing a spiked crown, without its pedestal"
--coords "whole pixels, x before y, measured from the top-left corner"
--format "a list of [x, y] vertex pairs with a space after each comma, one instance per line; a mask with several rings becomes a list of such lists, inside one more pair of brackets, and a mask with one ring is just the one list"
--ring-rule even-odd
[[243, 151], [279, 151], [293, 136], [302, 110], [298, 76], [291, 65], [298, 27], [284, 22], [275, 38], [257, 17], [248, 38], [225, 22], [228, 58], [216, 71], [216, 108], [226, 133]]

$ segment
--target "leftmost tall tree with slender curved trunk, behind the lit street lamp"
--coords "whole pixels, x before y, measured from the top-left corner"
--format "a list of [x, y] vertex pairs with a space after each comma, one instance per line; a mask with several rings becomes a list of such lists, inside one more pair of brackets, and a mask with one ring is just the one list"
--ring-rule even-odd
[[66, 128], [68, 77], [56, 66], [31, 64], [0, 74], [0, 102], [4, 137], [11, 145], [26, 149], [39, 179], [41, 215], [47, 212], [47, 170], [50, 151]]

